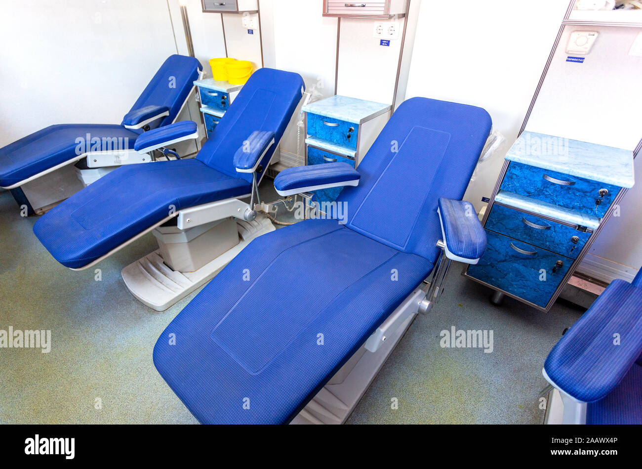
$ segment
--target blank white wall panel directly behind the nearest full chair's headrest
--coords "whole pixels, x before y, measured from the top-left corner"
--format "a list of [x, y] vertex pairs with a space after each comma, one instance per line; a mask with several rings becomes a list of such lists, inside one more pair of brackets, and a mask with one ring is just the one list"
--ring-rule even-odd
[[483, 107], [507, 138], [465, 195], [477, 210], [492, 195], [567, 7], [568, 0], [422, 1], [406, 98]]

